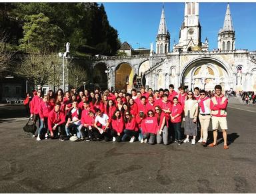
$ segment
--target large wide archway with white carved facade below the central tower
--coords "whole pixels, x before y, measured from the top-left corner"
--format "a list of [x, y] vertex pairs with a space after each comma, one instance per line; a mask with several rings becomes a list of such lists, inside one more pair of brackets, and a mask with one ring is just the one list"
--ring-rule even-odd
[[216, 84], [221, 84], [223, 90], [230, 90], [230, 70], [225, 64], [213, 58], [198, 58], [184, 66], [181, 72], [181, 84], [189, 90], [195, 87], [214, 90]]

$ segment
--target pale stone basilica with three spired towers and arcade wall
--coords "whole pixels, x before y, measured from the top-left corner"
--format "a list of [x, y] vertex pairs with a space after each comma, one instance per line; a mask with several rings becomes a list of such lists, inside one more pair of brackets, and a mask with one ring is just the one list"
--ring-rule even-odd
[[[216, 84], [221, 84], [223, 90], [256, 91], [256, 52], [235, 48], [235, 29], [229, 4], [224, 16], [223, 28], [216, 40], [218, 48], [209, 50], [207, 39], [204, 43], [201, 41], [199, 3], [185, 3], [179, 42], [171, 51], [163, 9], [155, 52], [151, 43], [150, 54], [91, 58], [91, 82], [98, 83], [101, 88], [128, 91], [141, 85], [153, 90], [168, 88], [169, 84], [174, 84], [176, 90], [180, 85], [189, 90], [196, 86], [213, 90]], [[124, 51], [131, 50], [129, 44], [126, 46]]]

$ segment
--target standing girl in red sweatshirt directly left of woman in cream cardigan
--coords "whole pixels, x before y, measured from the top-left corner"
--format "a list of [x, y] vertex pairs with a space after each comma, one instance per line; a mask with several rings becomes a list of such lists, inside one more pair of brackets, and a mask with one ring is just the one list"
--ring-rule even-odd
[[182, 105], [177, 97], [173, 97], [173, 108], [171, 110], [171, 125], [175, 133], [175, 142], [181, 145], [181, 116], [183, 113]]

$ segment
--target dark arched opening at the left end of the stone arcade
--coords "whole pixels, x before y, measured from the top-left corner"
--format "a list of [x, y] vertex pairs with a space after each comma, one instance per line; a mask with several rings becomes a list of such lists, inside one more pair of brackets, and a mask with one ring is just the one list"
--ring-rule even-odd
[[105, 63], [98, 63], [93, 68], [93, 84], [98, 86], [101, 90], [107, 89], [107, 65]]

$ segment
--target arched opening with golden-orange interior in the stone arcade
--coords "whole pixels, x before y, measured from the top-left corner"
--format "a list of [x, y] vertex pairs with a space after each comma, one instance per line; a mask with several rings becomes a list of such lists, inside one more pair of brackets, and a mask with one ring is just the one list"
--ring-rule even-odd
[[127, 62], [119, 64], [115, 70], [115, 90], [130, 91], [133, 87], [134, 72]]

